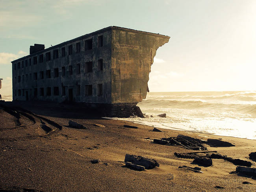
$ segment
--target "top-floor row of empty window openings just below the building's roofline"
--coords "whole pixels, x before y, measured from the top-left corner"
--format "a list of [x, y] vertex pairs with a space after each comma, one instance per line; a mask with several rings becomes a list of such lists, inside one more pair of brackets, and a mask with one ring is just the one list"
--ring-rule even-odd
[[[99, 36], [98, 37], [98, 47], [102, 47], [103, 46], [103, 36]], [[80, 48], [80, 42], [76, 43], [76, 53], [79, 53], [81, 48]], [[68, 46], [68, 52], [69, 55], [72, 55], [72, 44]], [[93, 49], [93, 40], [89, 39], [85, 41], [85, 51], [86, 50], [91, 50]], [[65, 47], [61, 48], [61, 56], [65, 57], [66, 55], [66, 51], [65, 51]], [[47, 52], [45, 54], [46, 56], [46, 61], [50, 61], [51, 60], [51, 52]], [[59, 58], [59, 50], [56, 49], [53, 51], [53, 59], [57, 59]], [[44, 62], [44, 55], [41, 54], [39, 55], [39, 63], [43, 63]], [[37, 56], [33, 57], [33, 64], [36, 65], [37, 64]], [[31, 58], [29, 59], [29, 65], [31, 65]], [[25, 60], [25, 66], [28, 66], [28, 60]], [[21, 62], [21, 67], [24, 68], [24, 61]], [[18, 62], [18, 69], [20, 69], [20, 62]], [[16, 64], [14, 65], [14, 69], [16, 70]]]

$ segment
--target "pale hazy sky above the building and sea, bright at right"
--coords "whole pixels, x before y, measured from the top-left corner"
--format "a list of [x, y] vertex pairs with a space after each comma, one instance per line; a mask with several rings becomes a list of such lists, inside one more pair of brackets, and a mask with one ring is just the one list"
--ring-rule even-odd
[[108, 26], [171, 36], [148, 87], [156, 91], [256, 90], [256, 0], [0, 0], [0, 78], [34, 43], [74, 39]]

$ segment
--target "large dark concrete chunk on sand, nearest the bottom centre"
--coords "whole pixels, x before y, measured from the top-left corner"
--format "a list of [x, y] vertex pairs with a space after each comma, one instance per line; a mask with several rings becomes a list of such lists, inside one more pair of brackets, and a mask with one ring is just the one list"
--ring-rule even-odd
[[156, 160], [148, 159], [146, 157], [141, 157], [141, 156], [136, 156], [136, 155], [126, 154], [124, 161], [132, 162], [134, 164], [144, 166], [145, 169], [153, 169], [156, 166], [159, 167], [159, 163], [156, 162]]

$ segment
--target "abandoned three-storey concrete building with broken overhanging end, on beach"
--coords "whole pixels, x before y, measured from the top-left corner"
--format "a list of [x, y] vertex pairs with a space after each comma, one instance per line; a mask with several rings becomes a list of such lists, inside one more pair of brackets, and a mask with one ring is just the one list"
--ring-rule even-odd
[[158, 47], [168, 36], [110, 26], [12, 61], [13, 100], [79, 102], [128, 116], [147, 95]]

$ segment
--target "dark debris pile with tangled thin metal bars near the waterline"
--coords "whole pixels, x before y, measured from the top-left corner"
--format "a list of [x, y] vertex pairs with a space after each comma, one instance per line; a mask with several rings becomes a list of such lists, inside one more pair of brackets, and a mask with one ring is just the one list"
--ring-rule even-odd
[[185, 135], [154, 139], [154, 143], [161, 145], [179, 145], [189, 150], [207, 150], [207, 148], [203, 145], [202, 140]]

